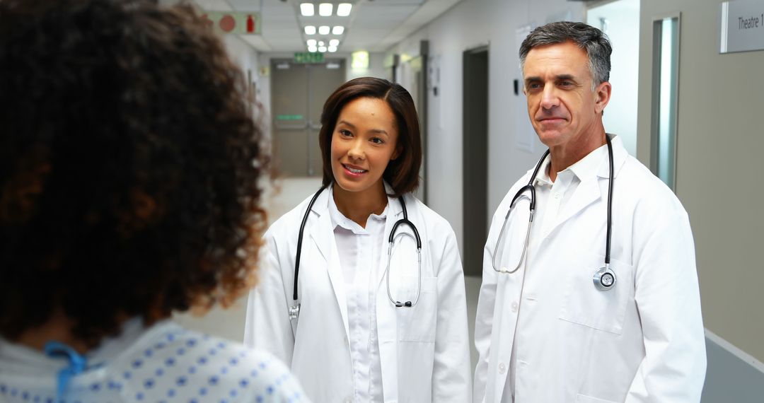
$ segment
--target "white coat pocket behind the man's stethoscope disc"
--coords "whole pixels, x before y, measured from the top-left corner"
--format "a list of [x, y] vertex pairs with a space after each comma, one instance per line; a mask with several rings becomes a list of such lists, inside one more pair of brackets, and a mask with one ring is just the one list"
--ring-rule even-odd
[[580, 259], [568, 270], [565, 277], [565, 294], [559, 318], [613, 334], [623, 332], [626, 306], [634, 299], [634, 269], [632, 266], [610, 259], [610, 269], [616, 276], [613, 288], [600, 291], [594, 287], [594, 272], [604, 266], [604, 256], [591, 253]]

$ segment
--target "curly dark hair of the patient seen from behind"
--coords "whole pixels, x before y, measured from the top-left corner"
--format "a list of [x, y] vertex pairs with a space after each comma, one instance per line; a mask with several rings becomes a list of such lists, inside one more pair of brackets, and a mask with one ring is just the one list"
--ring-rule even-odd
[[0, 334], [50, 320], [95, 347], [119, 318], [254, 284], [261, 131], [189, 6], [0, 1]]

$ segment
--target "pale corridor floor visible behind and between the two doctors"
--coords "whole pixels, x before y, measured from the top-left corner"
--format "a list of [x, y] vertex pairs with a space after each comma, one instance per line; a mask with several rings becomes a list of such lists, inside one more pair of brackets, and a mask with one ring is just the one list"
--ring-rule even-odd
[[[321, 186], [319, 178], [283, 179], [274, 183], [267, 189], [264, 203], [268, 211], [268, 221], [274, 222], [282, 214], [290, 211], [304, 198], [311, 195]], [[472, 346], [472, 368], [478, 361], [474, 351], [472, 337], [474, 335], [475, 311], [478, 308], [478, 292], [481, 279], [479, 277], [467, 277], [467, 313], [469, 324], [470, 345]], [[206, 334], [225, 337], [230, 340], [241, 341], [244, 339], [244, 316], [247, 308], [247, 297], [244, 295], [235, 305], [228, 309], [215, 308], [203, 317], [192, 314], [176, 314], [175, 320], [185, 327], [199, 330]]]

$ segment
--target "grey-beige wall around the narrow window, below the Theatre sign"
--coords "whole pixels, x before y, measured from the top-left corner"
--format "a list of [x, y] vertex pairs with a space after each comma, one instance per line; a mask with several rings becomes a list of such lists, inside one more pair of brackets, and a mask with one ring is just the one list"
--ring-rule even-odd
[[764, 361], [764, 51], [719, 54], [719, 4], [642, 3], [637, 156], [649, 164], [652, 18], [681, 12], [676, 193], [690, 215], [704, 325]]

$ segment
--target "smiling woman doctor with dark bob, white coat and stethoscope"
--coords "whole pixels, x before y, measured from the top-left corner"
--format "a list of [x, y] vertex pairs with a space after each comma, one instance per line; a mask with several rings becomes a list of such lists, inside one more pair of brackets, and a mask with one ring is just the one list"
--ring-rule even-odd
[[422, 161], [411, 95], [353, 79], [321, 124], [325, 189], [265, 234], [244, 343], [283, 359], [313, 401], [470, 401], [455, 234], [411, 194]]

